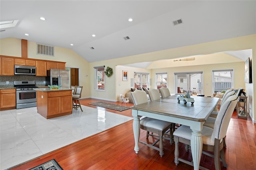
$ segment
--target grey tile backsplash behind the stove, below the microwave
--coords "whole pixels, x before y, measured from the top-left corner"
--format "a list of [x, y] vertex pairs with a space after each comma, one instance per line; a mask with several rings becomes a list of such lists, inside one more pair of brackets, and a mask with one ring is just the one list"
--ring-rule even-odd
[[[7, 84], [6, 81], [8, 81], [9, 84]], [[30, 75], [0, 76], [0, 86], [12, 86], [14, 85], [14, 81], [35, 81], [37, 86], [44, 86], [46, 77]]]

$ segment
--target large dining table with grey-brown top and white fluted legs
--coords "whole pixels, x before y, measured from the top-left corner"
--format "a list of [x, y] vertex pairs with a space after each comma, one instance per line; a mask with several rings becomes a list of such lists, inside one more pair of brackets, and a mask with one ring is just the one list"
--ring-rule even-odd
[[132, 106], [133, 132], [135, 153], [138, 154], [138, 141], [140, 138], [140, 117], [169, 121], [180, 125], [187, 125], [192, 130], [191, 152], [194, 170], [199, 169], [202, 155], [202, 129], [206, 119], [210, 116], [219, 102], [219, 98], [191, 96], [194, 103], [178, 101], [180, 94], [169, 96], [160, 100]]

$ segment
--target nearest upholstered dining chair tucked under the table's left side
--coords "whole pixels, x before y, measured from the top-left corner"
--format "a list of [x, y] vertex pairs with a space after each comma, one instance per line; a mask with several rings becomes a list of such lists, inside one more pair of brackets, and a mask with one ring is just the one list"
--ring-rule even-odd
[[[134, 105], [138, 105], [138, 104], [143, 104], [143, 103], [147, 103], [148, 102], [148, 98], [146, 95], [145, 91], [142, 90], [135, 90], [134, 92], [131, 92], [131, 96], [132, 96], [132, 100], [134, 102]], [[150, 117], [140, 117], [140, 129], [143, 129], [145, 131], [147, 131], [147, 135], [146, 138], [148, 138], [148, 136], [153, 136], [153, 137], [158, 137], [158, 140], [152, 144], [148, 144], [146, 142], [143, 141], [139, 141], [139, 143], [142, 143], [152, 149], [156, 149], [159, 151], [160, 156], [162, 157], [164, 155], [163, 152], [163, 138], [166, 139], [164, 137], [164, 133], [170, 129], [170, 131], [172, 130], [172, 123], [168, 122], [168, 121], [162, 121], [162, 120], [158, 120], [158, 119], [152, 119]], [[158, 134], [158, 136], [156, 135], [152, 135], [149, 134], [149, 132], [152, 133], [156, 133]], [[170, 143], [172, 145], [172, 138], [169, 137], [168, 140], [170, 140]], [[159, 141], [159, 148], [154, 146], [156, 143], [158, 143]]]

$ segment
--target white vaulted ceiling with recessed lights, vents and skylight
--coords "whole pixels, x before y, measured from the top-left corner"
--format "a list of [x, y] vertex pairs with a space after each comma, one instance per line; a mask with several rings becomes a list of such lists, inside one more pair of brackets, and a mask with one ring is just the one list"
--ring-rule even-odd
[[96, 62], [255, 34], [256, 1], [1, 0], [0, 21], [8, 20], [19, 21], [1, 25], [1, 39], [69, 48]]

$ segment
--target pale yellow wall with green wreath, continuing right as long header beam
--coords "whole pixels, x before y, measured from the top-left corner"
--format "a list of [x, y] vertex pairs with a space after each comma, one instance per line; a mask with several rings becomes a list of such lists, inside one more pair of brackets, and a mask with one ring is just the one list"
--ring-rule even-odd
[[[224, 39], [219, 41], [212, 41], [208, 43], [202, 43], [197, 45], [190, 45], [185, 47], [178, 47], [173, 49], [167, 49], [163, 51], [156, 51], [152, 53], [145, 53], [141, 55], [133, 55], [129, 57], [122, 57], [118, 59], [100, 61], [90, 63], [90, 74], [94, 73], [94, 66], [110, 66], [111, 68], [115, 68], [118, 65], [124, 64], [132, 64], [132, 63], [140, 63], [146, 61], [156, 61], [156, 60], [164, 60], [164, 59], [176, 59], [179, 57], [192, 56], [192, 55], [208, 55], [212, 53], [218, 53], [223, 51], [237, 51], [243, 49], [252, 49], [252, 68], [253, 68], [253, 80], [256, 81], [256, 35], [248, 35], [243, 37], [236, 37], [232, 39]], [[212, 68], [214, 70], [215, 68]], [[204, 75], [206, 76], [206, 75]], [[211, 75], [208, 75], [211, 76]], [[235, 75], [236, 76], [236, 75]], [[243, 77], [243, 76], [242, 76]], [[95, 98], [104, 98], [109, 100], [116, 100], [119, 94], [117, 92], [122, 92], [122, 90], [116, 91], [118, 89], [116, 85], [116, 80], [118, 78], [116, 75], [116, 70], [114, 69], [114, 75], [111, 78], [106, 79], [106, 92], [96, 92], [94, 90], [94, 79], [90, 77], [91, 83], [91, 96]], [[236, 78], [235, 78], [236, 81]], [[204, 80], [206, 83], [206, 80]], [[242, 81], [244, 82], [244, 81]], [[210, 83], [210, 82], [208, 82]], [[210, 86], [210, 85], [208, 85]], [[240, 84], [237, 86], [240, 86]], [[244, 86], [244, 85], [241, 85]], [[246, 91], [248, 90], [248, 98], [250, 98], [250, 116], [253, 121], [256, 123], [255, 119], [255, 111], [254, 106], [256, 106], [256, 100], [254, 100], [254, 96], [256, 96], [256, 86], [253, 84], [245, 84]], [[126, 87], [127, 89], [128, 87]], [[173, 89], [173, 88], [172, 88]], [[115, 93], [114, 93], [115, 92]], [[208, 92], [207, 92], [208, 93]]]

